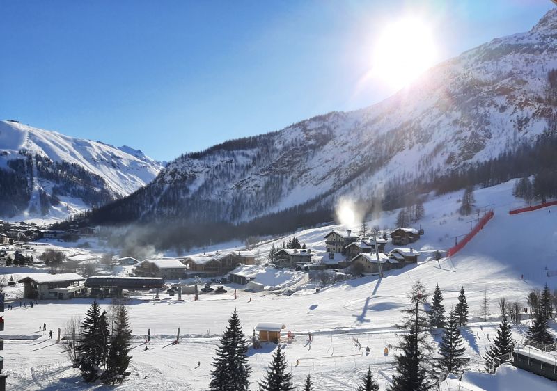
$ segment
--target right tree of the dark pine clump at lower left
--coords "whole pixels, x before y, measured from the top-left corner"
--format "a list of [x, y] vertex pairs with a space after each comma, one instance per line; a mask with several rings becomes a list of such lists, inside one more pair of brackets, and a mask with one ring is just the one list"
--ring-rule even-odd
[[111, 337], [109, 356], [107, 358], [107, 369], [102, 374], [104, 383], [113, 385], [115, 383], [123, 383], [130, 372], [127, 367], [130, 365], [132, 356], [130, 353], [130, 339], [132, 330], [130, 330], [130, 321], [127, 317], [125, 306], [120, 305], [116, 325]]

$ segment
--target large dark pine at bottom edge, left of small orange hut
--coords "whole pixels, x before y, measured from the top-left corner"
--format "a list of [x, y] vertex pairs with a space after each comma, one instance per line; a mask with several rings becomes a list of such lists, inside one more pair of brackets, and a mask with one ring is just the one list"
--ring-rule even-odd
[[217, 357], [212, 363], [210, 391], [247, 391], [251, 367], [247, 365], [248, 342], [236, 310], [228, 320], [226, 331], [217, 347]]

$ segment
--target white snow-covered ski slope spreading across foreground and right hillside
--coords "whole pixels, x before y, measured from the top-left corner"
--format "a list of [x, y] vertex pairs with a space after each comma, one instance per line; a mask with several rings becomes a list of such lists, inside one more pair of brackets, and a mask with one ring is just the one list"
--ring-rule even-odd
[[[251, 293], [240, 289], [240, 285], [228, 285], [232, 288], [228, 293], [200, 295], [199, 301], [194, 301], [192, 295], [182, 296], [183, 301], [166, 294], [162, 294], [160, 301], [153, 301], [152, 294], [132, 298], [128, 302], [134, 330], [132, 374], [116, 389], [206, 390], [219, 336], [230, 314], [237, 309], [248, 337], [256, 324], [265, 321], [284, 324], [283, 331], [295, 335], [292, 343], [284, 340], [281, 344], [299, 389], [309, 373], [315, 390], [356, 390], [364, 372], [371, 366], [381, 390], [386, 390], [395, 372], [394, 354], [399, 340], [395, 324], [400, 321], [400, 311], [408, 305], [407, 292], [412, 283], [421, 280], [430, 293], [439, 284], [446, 310], [455, 305], [460, 287], [464, 286], [470, 307], [471, 321], [461, 332], [473, 372], [466, 373], [462, 383], [449, 379], [444, 390], [457, 390], [459, 386], [461, 390], [473, 391], [553, 390], [556, 383], [515, 367], [501, 367], [496, 375], [476, 373], [484, 368], [481, 356], [492, 344], [499, 325], [496, 301], [505, 296], [509, 301], [519, 300], [526, 306], [526, 296], [531, 289], [540, 288], [546, 282], [551, 289], [557, 288], [557, 276], [547, 277], [548, 271], [557, 269], [557, 207], [510, 215], [509, 209], [524, 205], [511, 195], [512, 183], [475, 191], [480, 216], [485, 205], [494, 210], [494, 218], [450, 259], [437, 262], [428, 252], [446, 250], [455, 243], [455, 236], [469, 232], [469, 221], [476, 215], [461, 217], [457, 213], [460, 206], [457, 200], [462, 192], [425, 202], [425, 217], [419, 222], [425, 235], [412, 244], [422, 253], [418, 264], [387, 271], [384, 278], [367, 276], [347, 280], [324, 287], [320, 292], [316, 292], [311, 282], [300, 285], [299, 280], [295, 280], [298, 290], [290, 296], [267, 291]], [[368, 221], [368, 225], [392, 228], [395, 216], [396, 212], [384, 213]], [[292, 235], [309, 248], [324, 251], [324, 234], [342, 228], [329, 225]], [[282, 241], [288, 241], [288, 236], [265, 241], [255, 250], [266, 258], [272, 244], [276, 246]], [[17, 268], [11, 269], [21, 275]], [[8, 273], [8, 270], [3, 269], [3, 272]], [[236, 299], [234, 287], [238, 288]], [[480, 319], [484, 292], [487, 292], [491, 312], [487, 322]], [[111, 301], [101, 303], [107, 308]], [[83, 317], [90, 304], [91, 300], [85, 298], [39, 301], [33, 308], [16, 307], [4, 313], [3, 356], [8, 389], [109, 389], [98, 383], [88, 385], [81, 381], [79, 370], [72, 368], [62, 346], [55, 343], [56, 330], [63, 330], [72, 316]], [[47, 330], [55, 330], [54, 340], [38, 331], [43, 323], [47, 324]], [[524, 341], [527, 325], [527, 321], [523, 321], [522, 325], [512, 328], [519, 344]], [[180, 340], [173, 344], [178, 328]], [[554, 322], [551, 328], [557, 334]], [[146, 344], [148, 329], [151, 341]], [[311, 342], [308, 332], [312, 335]], [[434, 331], [432, 338], [439, 340], [440, 333], [440, 330]], [[356, 346], [355, 340], [361, 348]], [[366, 354], [368, 346], [370, 353]], [[386, 347], [389, 353], [385, 353]], [[263, 344], [262, 349], [249, 350], [253, 390], [258, 389], [256, 382], [265, 376], [275, 348], [275, 344]], [[505, 379], [514, 376], [515, 381], [498, 381], [497, 376]], [[535, 381], [531, 383], [533, 387], [525, 388], [530, 378]]]

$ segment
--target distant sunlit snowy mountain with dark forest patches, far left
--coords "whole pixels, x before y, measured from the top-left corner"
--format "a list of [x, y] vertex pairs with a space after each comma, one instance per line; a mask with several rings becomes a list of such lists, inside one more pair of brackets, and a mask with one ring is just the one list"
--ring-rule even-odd
[[0, 121], [0, 216], [50, 216], [104, 205], [150, 182], [143, 152]]

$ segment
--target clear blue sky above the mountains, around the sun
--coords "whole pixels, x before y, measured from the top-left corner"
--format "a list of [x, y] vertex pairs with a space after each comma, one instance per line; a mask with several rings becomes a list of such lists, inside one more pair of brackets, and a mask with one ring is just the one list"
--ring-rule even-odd
[[[0, 0], [0, 118], [160, 160], [391, 95], [361, 83], [386, 23], [439, 60], [527, 31], [549, 0]], [[0, 146], [1, 147], [1, 146]]]

